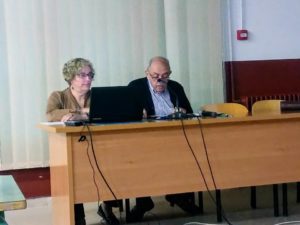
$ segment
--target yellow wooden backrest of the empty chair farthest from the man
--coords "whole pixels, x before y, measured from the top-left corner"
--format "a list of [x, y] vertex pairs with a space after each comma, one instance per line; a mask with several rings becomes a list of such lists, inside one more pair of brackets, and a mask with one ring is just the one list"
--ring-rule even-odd
[[281, 114], [282, 100], [262, 100], [252, 105], [252, 116]]

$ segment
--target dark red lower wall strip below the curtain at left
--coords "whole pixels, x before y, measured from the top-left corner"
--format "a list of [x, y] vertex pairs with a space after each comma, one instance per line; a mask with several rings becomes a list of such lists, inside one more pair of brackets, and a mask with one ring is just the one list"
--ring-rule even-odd
[[6, 170], [0, 175], [12, 175], [26, 198], [51, 196], [49, 167]]

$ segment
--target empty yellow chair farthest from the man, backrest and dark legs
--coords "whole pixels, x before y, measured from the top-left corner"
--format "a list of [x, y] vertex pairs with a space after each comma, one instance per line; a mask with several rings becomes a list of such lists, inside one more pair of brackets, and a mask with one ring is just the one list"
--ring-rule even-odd
[[[280, 115], [282, 100], [262, 100], [257, 101], [252, 105], [252, 116], [263, 115]], [[278, 185], [273, 184], [273, 202], [274, 202], [274, 215], [279, 216], [278, 207]], [[287, 210], [287, 184], [282, 184], [282, 205], [283, 215], [288, 215]]]

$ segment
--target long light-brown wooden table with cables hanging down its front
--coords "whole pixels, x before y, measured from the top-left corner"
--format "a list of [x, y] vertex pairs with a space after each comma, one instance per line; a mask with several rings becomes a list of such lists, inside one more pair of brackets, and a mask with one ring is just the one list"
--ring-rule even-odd
[[74, 203], [300, 181], [299, 113], [39, 127], [55, 225]]

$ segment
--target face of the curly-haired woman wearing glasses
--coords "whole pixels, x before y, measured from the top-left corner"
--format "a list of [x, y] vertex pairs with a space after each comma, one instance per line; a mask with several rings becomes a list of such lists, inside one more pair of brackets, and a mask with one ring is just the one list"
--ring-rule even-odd
[[89, 66], [84, 66], [71, 80], [71, 88], [77, 92], [86, 93], [90, 90], [94, 74]]

